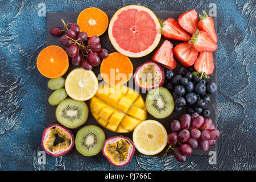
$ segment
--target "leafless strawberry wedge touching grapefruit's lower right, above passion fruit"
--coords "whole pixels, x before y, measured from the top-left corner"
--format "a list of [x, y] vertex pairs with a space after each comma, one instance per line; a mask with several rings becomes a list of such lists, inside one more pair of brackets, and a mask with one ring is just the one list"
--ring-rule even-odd
[[174, 46], [169, 40], [164, 40], [163, 44], [152, 56], [152, 60], [160, 63], [163, 67], [174, 69], [176, 68], [177, 62], [174, 59]]

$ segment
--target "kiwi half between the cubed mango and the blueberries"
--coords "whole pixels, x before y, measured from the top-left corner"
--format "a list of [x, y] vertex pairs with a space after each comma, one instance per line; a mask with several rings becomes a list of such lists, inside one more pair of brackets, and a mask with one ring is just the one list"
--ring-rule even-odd
[[174, 98], [162, 86], [150, 90], [146, 98], [146, 109], [155, 118], [166, 118], [174, 110]]

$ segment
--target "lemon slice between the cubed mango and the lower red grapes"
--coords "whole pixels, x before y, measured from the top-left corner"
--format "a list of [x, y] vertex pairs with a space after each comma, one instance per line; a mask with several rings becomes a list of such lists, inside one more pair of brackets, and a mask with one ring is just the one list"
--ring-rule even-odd
[[134, 146], [144, 155], [155, 155], [167, 144], [167, 131], [155, 120], [139, 123], [133, 131]]

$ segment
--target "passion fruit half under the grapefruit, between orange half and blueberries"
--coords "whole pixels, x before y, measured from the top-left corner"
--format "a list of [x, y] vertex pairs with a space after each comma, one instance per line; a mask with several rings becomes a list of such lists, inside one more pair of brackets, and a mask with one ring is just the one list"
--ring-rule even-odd
[[163, 68], [155, 61], [147, 61], [139, 66], [134, 73], [134, 82], [142, 90], [160, 87], [164, 82]]

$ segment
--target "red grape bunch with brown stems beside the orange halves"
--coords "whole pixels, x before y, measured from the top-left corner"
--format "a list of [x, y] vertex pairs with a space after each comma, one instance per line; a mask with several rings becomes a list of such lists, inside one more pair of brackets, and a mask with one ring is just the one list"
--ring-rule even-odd
[[[92, 36], [87, 39], [86, 32], [81, 32], [80, 27], [76, 23], [65, 24], [61, 19], [64, 27], [53, 27], [50, 30], [51, 35], [60, 36], [59, 43], [65, 46], [65, 51], [68, 56], [71, 57], [73, 65], [81, 65], [86, 70], [91, 70], [93, 67], [97, 67], [101, 63], [101, 59], [106, 59], [109, 53], [106, 49], [101, 48], [100, 38], [98, 36]], [[68, 25], [70, 27], [68, 28]], [[85, 41], [87, 41], [87, 45]]]

